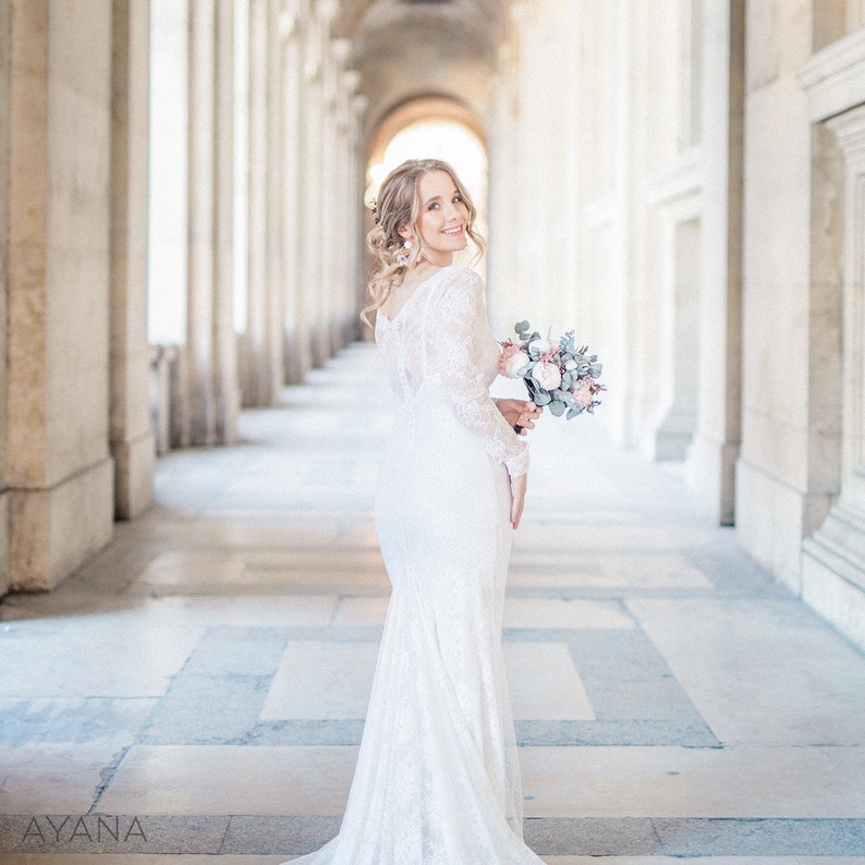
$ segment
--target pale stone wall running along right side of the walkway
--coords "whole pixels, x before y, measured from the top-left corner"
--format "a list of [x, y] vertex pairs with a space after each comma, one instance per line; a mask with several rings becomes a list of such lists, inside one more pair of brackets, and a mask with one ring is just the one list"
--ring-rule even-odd
[[575, 322], [607, 364], [596, 422], [684, 461], [706, 512], [865, 645], [861, 4], [513, 13], [494, 319]]

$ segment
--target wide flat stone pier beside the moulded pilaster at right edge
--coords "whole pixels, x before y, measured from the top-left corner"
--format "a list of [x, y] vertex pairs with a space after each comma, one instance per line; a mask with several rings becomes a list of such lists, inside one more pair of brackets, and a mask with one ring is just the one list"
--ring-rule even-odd
[[[831, 214], [815, 186], [808, 98], [796, 72], [819, 4], [746, 3], [743, 176], [742, 446], [735, 525], [745, 549], [802, 590], [802, 540], [832, 496], [823, 341], [832, 331], [831, 256], [815, 246]], [[861, 99], [862, 87], [857, 86]], [[792, 385], [792, 390], [791, 390]], [[829, 428], [821, 430], [829, 422]], [[830, 473], [837, 473], [837, 467]], [[827, 480], [830, 483], [827, 484]]]

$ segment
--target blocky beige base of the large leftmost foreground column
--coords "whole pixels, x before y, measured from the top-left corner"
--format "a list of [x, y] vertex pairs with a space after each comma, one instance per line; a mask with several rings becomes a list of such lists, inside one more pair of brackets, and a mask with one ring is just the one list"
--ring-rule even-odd
[[107, 458], [51, 489], [10, 490], [12, 589], [52, 589], [111, 540], [113, 475]]

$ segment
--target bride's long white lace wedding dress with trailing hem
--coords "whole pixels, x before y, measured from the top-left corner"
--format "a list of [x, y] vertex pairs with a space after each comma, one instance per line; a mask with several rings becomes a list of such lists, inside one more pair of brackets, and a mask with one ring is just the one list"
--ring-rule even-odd
[[528, 467], [489, 398], [482, 281], [447, 267], [376, 341], [399, 406], [376, 526], [393, 587], [345, 816], [303, 865], [537, 865], [504, 680], [508, 468]]

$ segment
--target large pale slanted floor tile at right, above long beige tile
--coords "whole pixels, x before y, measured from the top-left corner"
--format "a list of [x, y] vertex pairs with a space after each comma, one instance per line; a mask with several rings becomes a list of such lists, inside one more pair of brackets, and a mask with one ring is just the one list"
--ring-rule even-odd
[[721, 741], [865, 745], [862, 655], [799, 602], [641, 598], [629, 608]]

